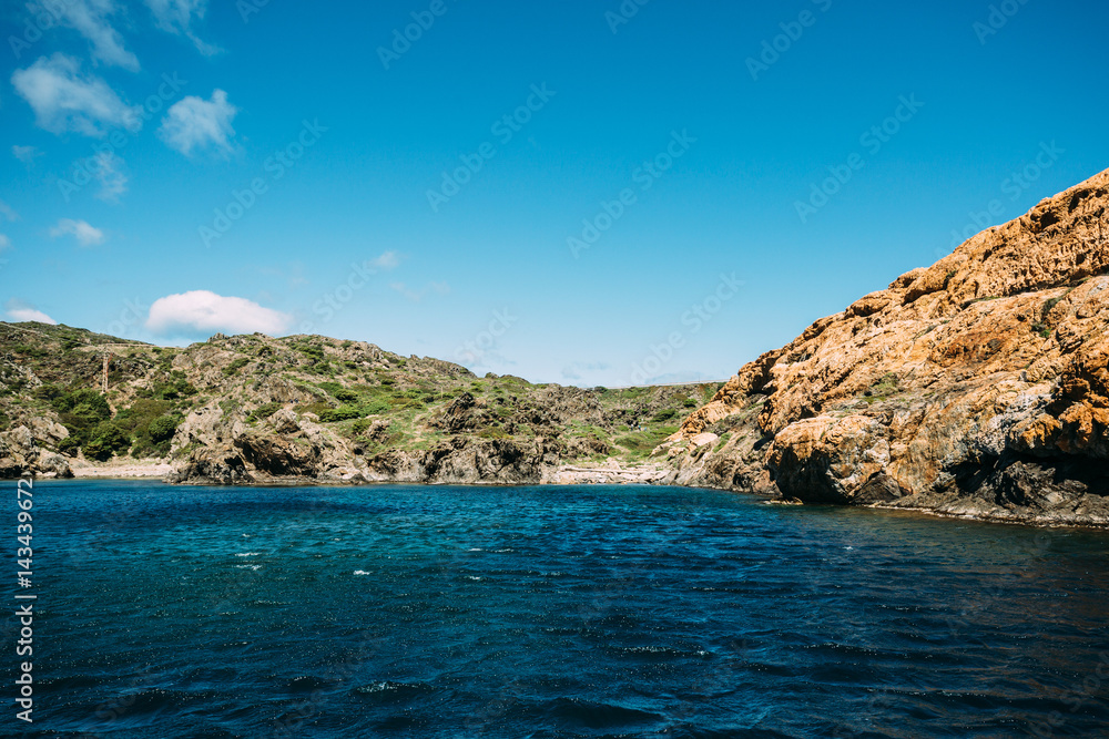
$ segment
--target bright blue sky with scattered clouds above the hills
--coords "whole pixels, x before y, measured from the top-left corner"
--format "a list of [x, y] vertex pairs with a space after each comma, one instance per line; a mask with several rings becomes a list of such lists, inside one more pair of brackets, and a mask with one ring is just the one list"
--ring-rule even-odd
[[723, 380], [1109, 167], [1101, 2], [0, 7], [2, 318], [160, 345]]

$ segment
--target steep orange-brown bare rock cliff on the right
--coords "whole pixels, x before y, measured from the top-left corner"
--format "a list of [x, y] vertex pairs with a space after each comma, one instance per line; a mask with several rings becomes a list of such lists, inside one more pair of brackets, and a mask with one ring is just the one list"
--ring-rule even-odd
[[743, 367], [661, 451], [805, 502], [1109, 524], [1109, 172]]

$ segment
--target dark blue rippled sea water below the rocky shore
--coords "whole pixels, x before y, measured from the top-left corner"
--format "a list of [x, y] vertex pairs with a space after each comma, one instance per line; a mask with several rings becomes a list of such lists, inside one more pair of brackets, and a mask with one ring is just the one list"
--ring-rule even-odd
[[1105, 533], [714, 491], [41, 482], [0, 727], [1106, 737], [1107, 572]]

